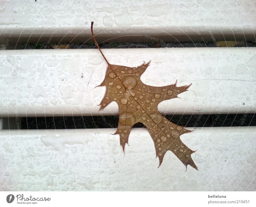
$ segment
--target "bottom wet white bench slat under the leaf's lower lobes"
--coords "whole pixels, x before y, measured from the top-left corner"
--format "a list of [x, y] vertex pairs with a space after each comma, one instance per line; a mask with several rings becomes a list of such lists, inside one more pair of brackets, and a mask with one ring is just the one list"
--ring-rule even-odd
[[182, 135], [197, 150], [192, 158], [199, 171], [188, 166], [186, 172], [170, 151], [157, 168], [146, 129], [132, 129], [124, 156], [115, 130], [1, 130], [0, 190], [256, 190], [256, 127]]

